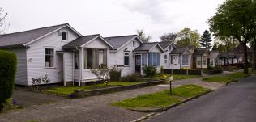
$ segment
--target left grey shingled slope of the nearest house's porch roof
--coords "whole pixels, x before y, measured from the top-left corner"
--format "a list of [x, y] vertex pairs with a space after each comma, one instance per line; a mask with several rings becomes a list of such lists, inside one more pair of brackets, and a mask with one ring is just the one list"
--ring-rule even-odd
[[100, 36], [100, 34], [79, 37], [71, 41], [70, 43], [65, 44], [64, 46], [62, 46], [62, 48], [75, 48], [76, 46], [82, 46], [83, 44], [87, 43], [93, 38], [96, 38], [97, 36]]

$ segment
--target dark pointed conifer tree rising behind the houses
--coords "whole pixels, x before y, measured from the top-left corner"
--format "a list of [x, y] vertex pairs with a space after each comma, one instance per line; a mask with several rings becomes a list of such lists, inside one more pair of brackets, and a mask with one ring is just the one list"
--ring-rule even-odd
[[201, 46], [205, 47], [207, 50], [210, 50], [211, 41], [211, 33], [208, 30], [205, 30], [201, 36], [201, 40], [199, 40]]

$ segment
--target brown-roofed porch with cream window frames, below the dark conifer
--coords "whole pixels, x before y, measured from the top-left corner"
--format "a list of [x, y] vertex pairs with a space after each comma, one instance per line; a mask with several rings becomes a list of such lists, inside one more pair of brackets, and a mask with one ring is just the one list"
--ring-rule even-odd
[[197, 48], [193, 53], [193, 69], [205, 69], [207, 68], [207, 58], [209, 54], [205, 48]]

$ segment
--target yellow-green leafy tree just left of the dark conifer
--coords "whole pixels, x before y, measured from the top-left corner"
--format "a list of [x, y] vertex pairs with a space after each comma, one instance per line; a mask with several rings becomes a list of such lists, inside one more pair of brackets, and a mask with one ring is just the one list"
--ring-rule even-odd
[[200, 34], [197, 30], [191, 31], [190, 28], [184, 28], [181, 32], [177, 33], [177, 45], [179, 46], [189, 46], [194, 45], [195, 48], [199, 48]]

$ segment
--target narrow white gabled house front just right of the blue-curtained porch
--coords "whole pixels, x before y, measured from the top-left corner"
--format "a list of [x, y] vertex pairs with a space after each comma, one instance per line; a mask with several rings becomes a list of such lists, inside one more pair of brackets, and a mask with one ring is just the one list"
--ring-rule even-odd
[[170, 53], [176, 46], [171, 41], [163, 41], [159, 43], [164, 49], [164, 53], [161, 53], [161, 65], [164, 69], [171, 69], [171, 56]]

